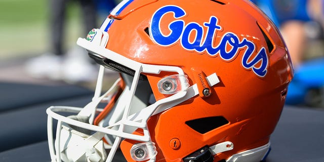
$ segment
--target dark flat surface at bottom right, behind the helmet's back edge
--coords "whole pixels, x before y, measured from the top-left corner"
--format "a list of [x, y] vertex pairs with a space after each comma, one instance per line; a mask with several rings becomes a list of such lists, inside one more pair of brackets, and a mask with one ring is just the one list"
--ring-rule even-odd
[[285, 106], [267, 161], [324, 161], [324, 111]]

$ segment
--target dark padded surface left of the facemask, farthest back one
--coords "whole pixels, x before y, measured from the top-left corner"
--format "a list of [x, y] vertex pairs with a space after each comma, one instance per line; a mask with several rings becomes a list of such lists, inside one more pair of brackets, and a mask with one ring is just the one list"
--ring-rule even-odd
[[45, 86], [0, 82], [0, 113], [92, 93], [88, 89], [71, 85]]

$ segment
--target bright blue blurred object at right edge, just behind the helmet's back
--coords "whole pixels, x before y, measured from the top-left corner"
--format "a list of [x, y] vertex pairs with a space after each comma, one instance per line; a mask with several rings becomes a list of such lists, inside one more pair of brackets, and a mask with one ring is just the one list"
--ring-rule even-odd
[[[319, 97], [320, 104], [323, 104], [322, 90], [324, 90], [324, 58], [305, 61], [295, 70], [294, 79], [288, 87], [286, 103], [312, 105], [316, 103], [310, 103], [312, 102], [310, 100]], [[310, 91], [316, 91], [317, 94], [310, 94]]]

